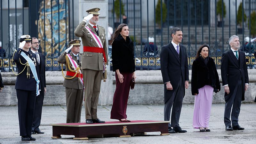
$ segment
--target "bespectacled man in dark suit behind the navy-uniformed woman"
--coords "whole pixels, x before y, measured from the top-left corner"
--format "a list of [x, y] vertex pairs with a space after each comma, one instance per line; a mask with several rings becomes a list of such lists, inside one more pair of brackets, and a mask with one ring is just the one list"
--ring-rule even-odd
[[31, 53], [36, 54], [36, 62], [39, 68], [39, 75], [40, 75], [40, 82], [41, 82], [41, 92], [40, 95], [36, 97], [36, 104], [35, 104], [35, 112], [34, 112], [34, 119], [32, 125], [32, 134], [42, 134], [39, 129], [41, 123], [41, 116], [42, 116], [42, 108], [44, 102], [44, 92], [46, 92], [46, 84], [45, 84], [45, 56], [42, 53], [38, 52], [39, 45], [41, 43], [38, 42], [36, 37], [32, 37], [32, 46], [31, 46]]

